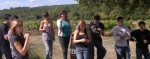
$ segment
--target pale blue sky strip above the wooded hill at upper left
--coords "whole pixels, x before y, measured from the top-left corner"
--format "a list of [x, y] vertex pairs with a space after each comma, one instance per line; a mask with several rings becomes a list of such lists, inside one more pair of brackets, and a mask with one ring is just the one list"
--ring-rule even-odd
[[0, 0], [0, 10], [9, 9], [10, 7], [37, 7], [76, 3], [74, 0]]

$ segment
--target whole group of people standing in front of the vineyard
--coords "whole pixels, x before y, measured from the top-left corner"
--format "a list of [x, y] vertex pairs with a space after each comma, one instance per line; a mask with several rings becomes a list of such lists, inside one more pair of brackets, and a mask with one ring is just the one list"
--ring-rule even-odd
[[[23, 22], [18, 16], [4, 15], [3, 24], [0, 27], [0, 59], [2, 53], [6, 59], [29, 59], [28, 41], [30, 33], [23, 34]], [[131, 32], [125, 26], [123, 17], [117, 18], [117, 24], [112, 33], [115, 41], [115, 51], [117, 59], [130, 59], [129, 40], [136, 43], [136, 58], [149, 58], [148, 44], [150, 43], [150, 31], [145, 28], [146, 23], [138, 23], [139, 29]], [[93, 21], [87, 24], [80, 20], [76, 30], [72, 31], [71, 23], [67, 18], [67, 12], [62, 11], [57, 20], [58, 38], [62, 48], [63, 59], [67, 59], [70, 36], [73, 32], [73, 43], [77, 59], [94, 59], [94, 46], [97, 48], [97, 59], [103, 59], [106, 49], [103, 47], [102, 36], [105, 35], [105, 26], [100, 22], [100, 16], [95, 15]], [[53, 42], [55, 41], [55, 31], [53, 22], [46, 12], [40, 23], [39, 31], [42, 31], [42, 40], [45, 46], [45, 59], [52, 59]]]

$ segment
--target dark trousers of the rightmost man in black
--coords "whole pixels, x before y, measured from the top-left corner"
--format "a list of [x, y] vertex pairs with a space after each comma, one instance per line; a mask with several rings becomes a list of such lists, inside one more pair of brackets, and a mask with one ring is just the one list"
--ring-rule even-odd
[[142, 59], [142, 54], [144, 56], [144, 59], [150, 59], [148, 49], [140, 49], [136, 47], [136, 59]]

